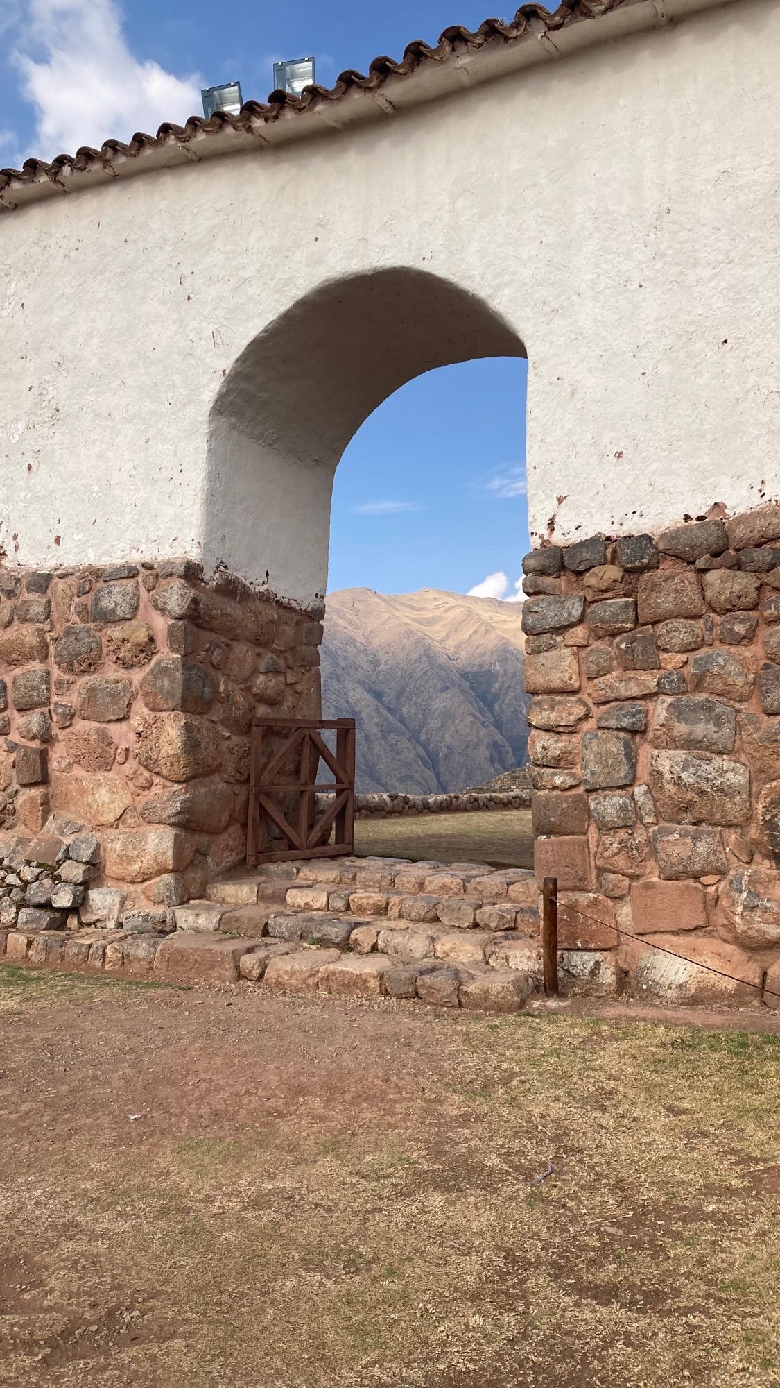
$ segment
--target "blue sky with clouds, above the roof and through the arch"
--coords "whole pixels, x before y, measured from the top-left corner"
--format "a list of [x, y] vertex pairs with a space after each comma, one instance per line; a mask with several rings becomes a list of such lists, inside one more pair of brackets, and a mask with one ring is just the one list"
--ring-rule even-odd
[[[330, 85], [489, 11], [489, 0], [0, 0], [0, 167], [183, 122], [200, 114], [201, 86], [239, 79], [244, 99], [264, 100], [279, 58], [314, 54]], [[411, 382], [366, 421], [336, 475], [330, 589], [514, 595], [529, 548], [525, 389], [525, 362], [466, 362]]]

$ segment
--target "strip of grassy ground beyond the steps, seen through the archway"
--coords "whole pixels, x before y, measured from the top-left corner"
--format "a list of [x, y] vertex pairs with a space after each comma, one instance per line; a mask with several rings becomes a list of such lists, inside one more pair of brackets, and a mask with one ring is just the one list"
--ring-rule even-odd
[[533, 867], [530, 809], [483, 809], [455, 815], [389, 815], [355, 822], [355, 852], [364, 858], [433, 858], [495, 867]]

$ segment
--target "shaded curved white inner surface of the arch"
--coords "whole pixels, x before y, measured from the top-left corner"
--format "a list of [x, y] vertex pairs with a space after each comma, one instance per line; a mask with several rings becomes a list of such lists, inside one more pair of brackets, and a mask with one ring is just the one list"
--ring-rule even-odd
[[308, 607], [325, 591], [333, 475], [361, 423], [436, 366], [525, 355], [484, 300], [427, 271], [361, 273], [298, 300], [214, 401], [205, 562]]

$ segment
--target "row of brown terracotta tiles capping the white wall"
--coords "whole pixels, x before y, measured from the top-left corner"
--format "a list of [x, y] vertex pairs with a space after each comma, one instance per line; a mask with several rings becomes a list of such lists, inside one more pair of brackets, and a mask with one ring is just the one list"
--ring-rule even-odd
[[[300, 96], [289, 96], [286, 92], [272, 92], [268, 103], [246, 101], [239, 115], [226, 115], [217, 111], [208, 121], [203, 117], [192, 115], [185, 125], [173, 125], [165, 121], [155, 136], [142, 132], [133, 135], [129, 143], [122, 140], [105, 140], [100, 150], [82, 146], [75, 155], [58, 154], [50, 164], [43, 160], [25, 160], [22, 169], [0, 169], [0, 197], [8, 187], [19, 187], [25, 183], [35, 183], [49, 179], [57, 182], [58, 175], [65, 172], [85, 172], [86, 169], [103, 165], [111, 171], [115, 161], [137, 158], [147, 150], [160, 147], [171, 140], [186, 146], [190, 140], [201, 139], [232, 128], [237, 135], [257, 133], [257, 128], [278, 121], [280, 117], [304, 112], [311, 108], [329, 105], [341, 101], [350, 92], [362, 90], [376, 93], [389, 79], [411, 76], [423, 64], [443, 64], [454, 54], [483, 49], [494, 43], [516, 43], [519, 39], [539, 35], [540, 25], [547, 33], [555, 33], [566, 25], [583, 19], [598, 18], [612, 10], [637, 4], [638, 0], [562, 0], [557, 10], [550, 11], [541, 4], [522, 4], [511, 21], [486, 19], [479, 29], [472, 32], [464, 25], [452, 25], [444, 29], [439, 43], [432, 47], [416, 39], [407, 44], [404, 57], [394, 61], [386, 56], [373, 58], [368, 69], [368, 76], [348, 69], [341, 72], [334, 86], [319, 85], [304, 87]], [[11, 204], [8, 204], [11, 205]]]

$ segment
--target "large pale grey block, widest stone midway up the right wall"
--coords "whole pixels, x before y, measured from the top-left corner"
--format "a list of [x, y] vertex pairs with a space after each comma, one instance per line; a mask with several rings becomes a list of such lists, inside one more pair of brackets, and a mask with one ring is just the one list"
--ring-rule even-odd
[[745, 824], [749, 770], [708, 752], [654, 752], [650, 784], [661, 818], [672, 823]]

